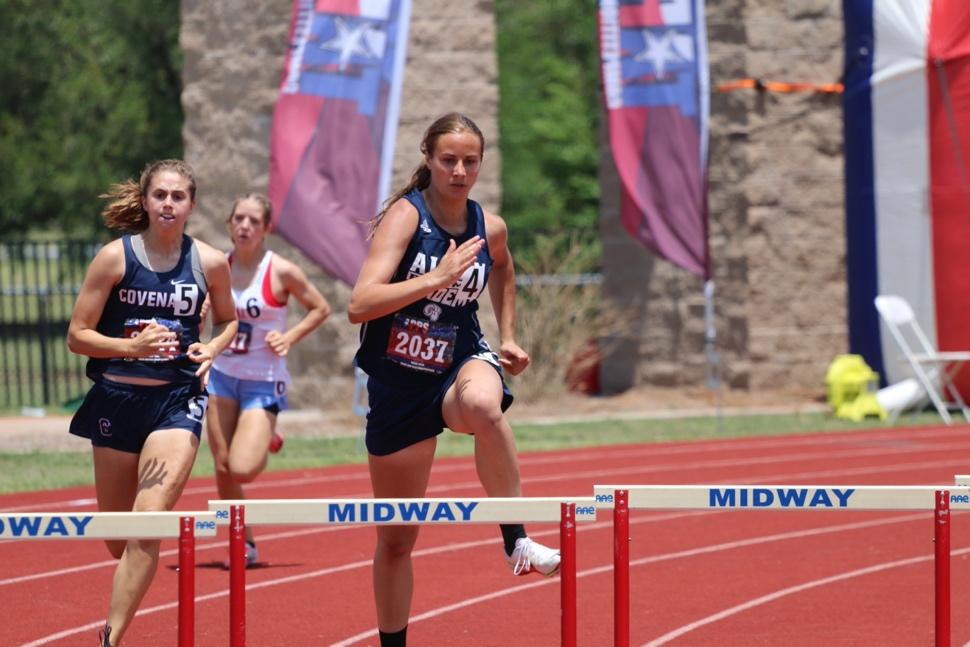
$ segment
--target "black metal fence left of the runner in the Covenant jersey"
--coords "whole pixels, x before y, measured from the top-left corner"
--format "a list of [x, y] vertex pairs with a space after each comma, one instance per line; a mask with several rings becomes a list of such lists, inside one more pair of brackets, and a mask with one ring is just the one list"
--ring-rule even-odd
[[0, 410], [61, 407], [84, 395], [86, 358], [67, 325], [94, 241], [0, 241]]

